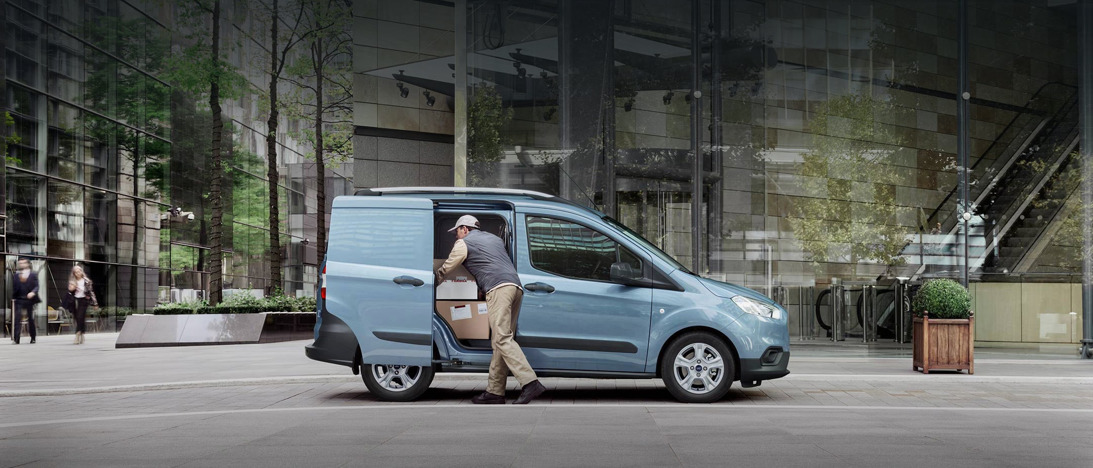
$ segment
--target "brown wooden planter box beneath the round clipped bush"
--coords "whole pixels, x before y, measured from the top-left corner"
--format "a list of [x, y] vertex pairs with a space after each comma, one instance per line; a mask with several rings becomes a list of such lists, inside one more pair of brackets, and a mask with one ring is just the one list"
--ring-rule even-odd
[[948, 368], [975, 374], [975, 316], [967, 318], [930, 318], [929, 313], [915, 317], [914, 362], [912, 368]]

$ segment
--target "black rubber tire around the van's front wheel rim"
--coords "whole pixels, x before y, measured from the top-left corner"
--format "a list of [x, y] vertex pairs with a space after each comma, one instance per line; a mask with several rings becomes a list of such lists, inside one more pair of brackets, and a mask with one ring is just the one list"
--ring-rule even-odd
[[[680, 352], [687, 350], [689, 355], [694, 355], [695, 346], [704, 344], [716, 351], [720, 356], [721, 368], [717, 372], [717, 378], [715, 379], [710, 390], [703, 390], [705, 385], [700, 388], [695, 388], [692, 384], [690, 388], [684, 388], [678, 382], [675, 358]], [[705, 353], [709, 355], [708, 353]], [[706, 361], [703, 361], [705, 363]], [[697, 364], [702, 365], [702, 364]], [[693, 367], [693, 366], [692, 366]], [[701, 368], [701, 367], [700, 367]], [[691, 372], [694, 372], [693, 368]], [[729, 388], [732, 386], [732, 381], [736, 378], [736, 361], [732, 351], [729, 346], [725, 343], [725, 340], [717, 335], [707, 331], [692, 331], [689, 334], [681, 335], [680, 337], [668, 343], [665, 348], [665, 353], [660, 359], [660, 377], [665, 381], [665, 386], [668, 387], [668, 391], [684, 403], [712, 403], [720, 400], [729, 393]], [[685, 378], [687, 375], [694, 375], [701, 378], [701, 372], [696, 374], [683, 374]]]

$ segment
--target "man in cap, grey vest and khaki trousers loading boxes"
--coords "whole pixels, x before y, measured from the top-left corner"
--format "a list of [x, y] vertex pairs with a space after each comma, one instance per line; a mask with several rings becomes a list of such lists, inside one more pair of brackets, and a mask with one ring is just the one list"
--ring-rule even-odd
[[475, 405], [504, 405], [505, 383], [512, 371], [519, 381], [520, 396], [515, 405], [527, 405], [542, 395], [545, 387], [528, 364], [524, 351], [514, 338], [516, 316], [520, 313], [524, 289], [516, 276], [516, 266], [505, 250], [505, 242], [493, 234], [479, 230], [478, 219], [465, 214], [448, 232], [456, 232], [456, 245], [451, 254], [436, 270], [436, 284], [459, 264], [474, 276], [479, 290], [485, 293], [485, 304], [490, 314], [490, 343], [493, 360], [490, 361], [490, 383], [482, 395], [471, 398]]

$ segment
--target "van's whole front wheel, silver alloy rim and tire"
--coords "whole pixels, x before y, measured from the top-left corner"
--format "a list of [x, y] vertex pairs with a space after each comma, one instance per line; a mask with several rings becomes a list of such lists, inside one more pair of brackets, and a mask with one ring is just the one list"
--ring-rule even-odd
[[720, 337], [693, 331], [668, 344], [660, 360], [660, 376], [675, 399], [712, 403], [729, 393], [736, 365], [732, 352]]

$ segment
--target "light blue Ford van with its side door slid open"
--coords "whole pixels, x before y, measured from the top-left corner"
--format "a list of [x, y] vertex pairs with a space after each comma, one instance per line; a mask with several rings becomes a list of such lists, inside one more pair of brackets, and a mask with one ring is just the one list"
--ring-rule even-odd
[[397, 187], [338, 197], [308, 358], [350, 366], [377, 398], [410, 401], [437, 372], [489, 371], [489, 340], [436, 312], [433, 262], [473, 214], [505, 239], [525, 295], [516, 340], [541, 377], [662, 378], [683, 402], [789, 374], [786, 311], [694, 274], [603, 213], [546, 194]]

